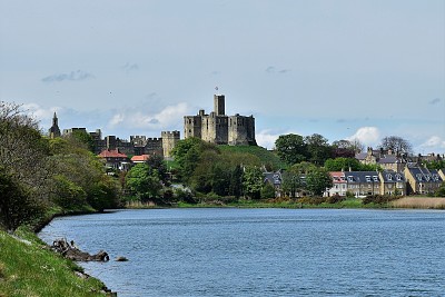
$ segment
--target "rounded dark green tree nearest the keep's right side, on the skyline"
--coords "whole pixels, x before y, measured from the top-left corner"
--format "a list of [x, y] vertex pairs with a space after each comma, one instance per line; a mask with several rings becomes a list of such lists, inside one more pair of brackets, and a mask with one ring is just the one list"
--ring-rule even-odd
[[281, 135], [275, 141], [275, 147], [278, 157], [287, 162], [288, 165], [294, 165], [307, 159], [307, 145], [299, 135]]

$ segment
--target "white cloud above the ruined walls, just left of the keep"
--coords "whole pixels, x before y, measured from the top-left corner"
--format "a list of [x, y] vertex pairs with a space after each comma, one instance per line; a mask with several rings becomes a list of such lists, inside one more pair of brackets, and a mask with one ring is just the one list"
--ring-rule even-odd
[[189, 107], [181, 102], [168, 106], [157, 113], [148, 113], [140, 109], [127, 109], [112, 116], [108, 122], [110, 128], [123, 126], [125, 128], [165, 129], [182, 122], [184, 115], [188, 115]]

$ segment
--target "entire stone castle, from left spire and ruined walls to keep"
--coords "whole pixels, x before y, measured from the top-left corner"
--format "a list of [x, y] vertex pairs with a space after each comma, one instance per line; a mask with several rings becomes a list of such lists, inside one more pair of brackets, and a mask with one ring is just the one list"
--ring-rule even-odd
[[[215, 109], [210, 115], [206, 115], [201, 109], [197, 116], [184, 117], [185, 138], [197, 137], [216, 145], [257, 145], [254, 116], [245, 117], [238, 113], [226, 116], [224, 95], [215, 95], [214, 103]], [[102, 138], [100, 129], [88, 132], [86, 128], [70, 128], [63, 129], [61, 133], [59, 120], [55, 112], [52, 127], [48, 130], [50, 138], [69, 136], [76, 131], [91, 136], [96, 155], [102, 151], [118, 151], [128, 156], [158, 155], [164, 156], [164, 158], [171, 158], [171, 150], [180, 140], [179, 131], [161, 131], [161, 137], [159, 138], [130, 136], [129, 140], [120, 139], [116, 136]]]

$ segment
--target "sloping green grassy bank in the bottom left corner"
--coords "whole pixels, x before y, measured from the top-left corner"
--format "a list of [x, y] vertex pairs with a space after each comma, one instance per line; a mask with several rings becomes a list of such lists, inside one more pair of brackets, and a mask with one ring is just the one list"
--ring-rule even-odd
[[101, 281], [49, 250], [33, 232], [0, 231], [0, 296], [106, 296]]

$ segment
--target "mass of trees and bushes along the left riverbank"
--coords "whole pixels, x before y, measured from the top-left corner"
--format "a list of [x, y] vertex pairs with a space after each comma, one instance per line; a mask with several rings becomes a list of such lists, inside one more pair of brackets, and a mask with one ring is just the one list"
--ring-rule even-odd
[[120, 187], [81, 137], [50, 139], [16, 103], [0, 101], [0, 227], [119, 205]]

